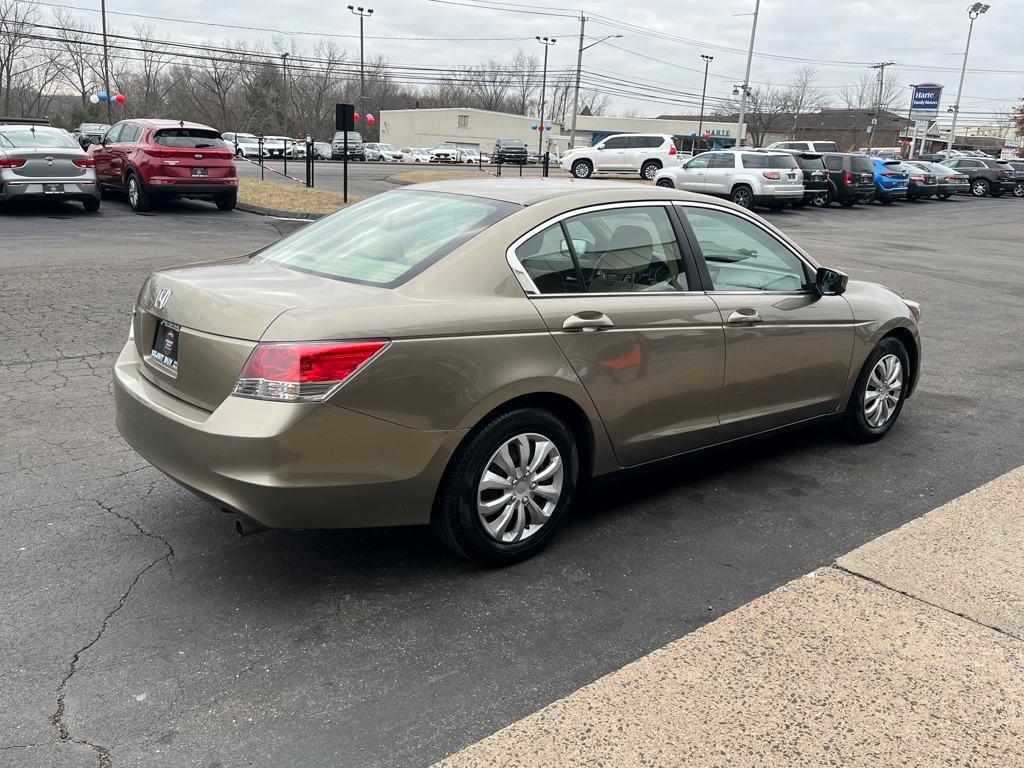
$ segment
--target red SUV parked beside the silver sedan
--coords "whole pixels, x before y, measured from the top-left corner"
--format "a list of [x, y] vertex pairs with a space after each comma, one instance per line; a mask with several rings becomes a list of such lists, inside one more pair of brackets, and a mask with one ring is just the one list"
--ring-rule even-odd
[[229, 211], [239, 196], [234, 153], [213, 128], [183, 120], [123, 120], [91, 147], [100, 188], [123, 189], [135, 211], [154, 198], [205, 198]]

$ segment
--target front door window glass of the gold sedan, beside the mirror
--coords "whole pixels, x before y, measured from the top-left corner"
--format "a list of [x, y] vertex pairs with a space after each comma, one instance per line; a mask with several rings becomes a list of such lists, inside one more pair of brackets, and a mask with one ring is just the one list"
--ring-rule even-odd
[[782, 243], [744, 218], [685, 208], [716, 291], [806, 290], [804, 263]]

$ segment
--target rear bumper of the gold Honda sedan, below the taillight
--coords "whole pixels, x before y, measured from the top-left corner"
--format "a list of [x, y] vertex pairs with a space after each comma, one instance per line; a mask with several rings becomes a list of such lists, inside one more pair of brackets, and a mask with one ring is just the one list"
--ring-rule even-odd
[[267, 527], [428, 522], [462, 431], [427, 431], [330, 403], [227, 397], [213, 413], [151, 383], [129, 342], [114, 367], [118, 430], [155, 467]]

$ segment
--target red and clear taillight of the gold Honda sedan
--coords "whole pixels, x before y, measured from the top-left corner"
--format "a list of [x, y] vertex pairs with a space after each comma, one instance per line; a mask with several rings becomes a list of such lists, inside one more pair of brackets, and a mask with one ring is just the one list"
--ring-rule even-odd
[[322, 400], [387, 341], [258, 344], [231, 394], [261, 400]]

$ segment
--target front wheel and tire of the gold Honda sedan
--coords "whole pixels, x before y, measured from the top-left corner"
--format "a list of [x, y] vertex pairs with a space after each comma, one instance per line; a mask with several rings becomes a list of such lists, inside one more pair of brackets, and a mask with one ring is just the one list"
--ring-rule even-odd
[[855, 442], [872, 442], [885, 436], [899, 418], [906, 401], [910, 357], [903, 342], [888, 337], [860, 369], [846, 409], [844, 427]]

